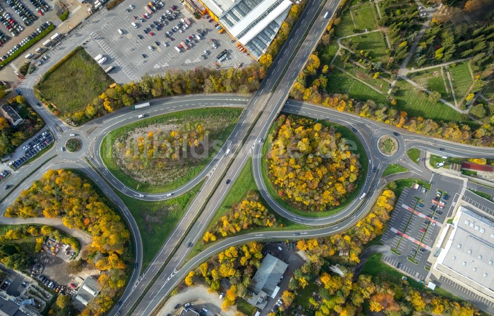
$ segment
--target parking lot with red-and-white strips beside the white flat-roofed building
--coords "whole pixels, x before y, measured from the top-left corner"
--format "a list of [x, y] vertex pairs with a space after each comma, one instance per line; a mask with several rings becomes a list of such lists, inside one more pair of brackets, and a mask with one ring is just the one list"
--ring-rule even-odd
[[[425, 268], [430, 268], [427, 259], [434, 251], [433, 242], [457, 198], [439, 189], [444, 184], [434, 183], [430, 191], [421, 186], [405, 188], [381, 237], [381, 242], [391, 249], [383, 260], [418, 280], [428, 275]], [[456, 187], [459, 191], [460, 187]]]

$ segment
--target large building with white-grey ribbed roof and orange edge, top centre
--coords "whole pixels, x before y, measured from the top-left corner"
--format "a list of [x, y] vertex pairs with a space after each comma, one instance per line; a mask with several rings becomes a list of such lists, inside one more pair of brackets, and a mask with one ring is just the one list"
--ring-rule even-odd
[[188, 0], [210, 14], [256, 60], [266, 51], [287, 18], [291, 0]]

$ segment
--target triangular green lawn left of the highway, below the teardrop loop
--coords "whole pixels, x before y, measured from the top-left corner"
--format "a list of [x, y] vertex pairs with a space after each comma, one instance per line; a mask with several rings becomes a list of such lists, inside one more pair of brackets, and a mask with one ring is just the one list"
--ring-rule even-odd
[[132, 213], [142, 238], [144, 271], [182, 218], [203, 181], [184, 195], [164, 201], [142, 201], [117, 192]]

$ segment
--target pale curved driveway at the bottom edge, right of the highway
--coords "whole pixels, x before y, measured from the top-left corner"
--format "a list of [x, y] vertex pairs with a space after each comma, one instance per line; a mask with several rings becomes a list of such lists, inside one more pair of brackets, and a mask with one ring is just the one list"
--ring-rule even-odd
[[[182, 306], [187, 302], [193, 302], [194, 308], [200, 311], [203, 307], [214, 313], [214, 315], [234, 316], [236, 307], [231, 307], [229, 311], [221, 310], [223, 300], [216, 293], [209, 293], [204, 285], [196, 285], [185, 288], [182, 292], [172, 296], [165, 306], [158, 313], [158, 316], [166, 316], [168, 313], [172, 315], [180, 315]], [[180, 304], [180, 308], [174, 309], [175, 305]]]

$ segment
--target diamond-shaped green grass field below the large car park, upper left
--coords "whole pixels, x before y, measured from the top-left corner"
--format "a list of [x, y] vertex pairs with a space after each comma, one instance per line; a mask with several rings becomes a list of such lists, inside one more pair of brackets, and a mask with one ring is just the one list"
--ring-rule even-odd
[[45, 74], [39, 90], [46, 101], [55, 104], [63, 115], [83, 111], [112, 83], [101, 66], [79, 47], [58, 68]]

